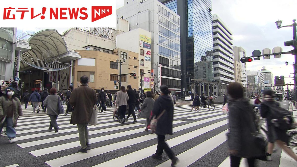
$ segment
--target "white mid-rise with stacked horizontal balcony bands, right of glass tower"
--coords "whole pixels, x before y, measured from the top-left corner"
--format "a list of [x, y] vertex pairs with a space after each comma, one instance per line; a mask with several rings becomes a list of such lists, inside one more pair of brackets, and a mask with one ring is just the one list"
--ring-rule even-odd
[[219, 18], [212, 15], [214, 80], [222, 84], [234, 82], [232, 31]]

